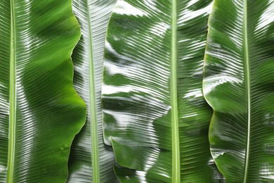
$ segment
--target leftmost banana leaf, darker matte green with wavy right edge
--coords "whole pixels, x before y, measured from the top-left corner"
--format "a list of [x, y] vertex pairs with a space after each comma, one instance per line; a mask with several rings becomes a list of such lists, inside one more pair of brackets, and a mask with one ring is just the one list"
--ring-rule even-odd
[[0, 182], [65, 182], [86, 106], [72, 87], [70, 0], [0, 1]]

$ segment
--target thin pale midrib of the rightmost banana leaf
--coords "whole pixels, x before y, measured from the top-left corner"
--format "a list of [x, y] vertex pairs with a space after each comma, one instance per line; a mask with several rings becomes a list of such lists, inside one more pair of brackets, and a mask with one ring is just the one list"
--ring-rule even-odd
[[249, 46], [247, 36], [247, 0], [244, 0], [244, 57], [246, 60], [244, 72], [246, 75], [246, 87], [247, 87], [247, 149], [245, 151], [244, 160], [244, 182], [247, 183], [247, 173], [249, 168], [249, 146], [250, 146], [250, 125], [251, 125], [251, 96], [250, 96], [250, 65], [249, 65]]

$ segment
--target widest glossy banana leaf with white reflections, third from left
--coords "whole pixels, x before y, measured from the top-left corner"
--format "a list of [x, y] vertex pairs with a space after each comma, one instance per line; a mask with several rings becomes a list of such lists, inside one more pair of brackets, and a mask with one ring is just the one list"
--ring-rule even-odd
[[211, 1], [119, 0], [103, 72], [105, 142], [121, 182], [222, 182], [202, 95]]

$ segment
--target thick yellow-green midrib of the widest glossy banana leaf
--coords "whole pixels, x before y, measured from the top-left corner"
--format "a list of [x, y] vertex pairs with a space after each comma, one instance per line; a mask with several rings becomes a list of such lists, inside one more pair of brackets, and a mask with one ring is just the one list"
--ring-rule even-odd
[[177, 183], [181, 179], [177, 104], [177, 0], [172, 1], [171, 21], [172, 182]]

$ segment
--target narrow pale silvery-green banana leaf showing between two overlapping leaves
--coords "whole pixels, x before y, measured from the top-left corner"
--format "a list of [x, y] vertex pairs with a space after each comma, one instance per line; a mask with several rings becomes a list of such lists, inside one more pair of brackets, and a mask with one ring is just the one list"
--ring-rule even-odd
[[86, 102], [86, 125], [74, 139], [67, 182], [117, 182], [115, 157], [103, 141], [101, 82], [107, 22], [116, 0], [74, 0], [81, 39], [72, 54], [74, 87]]

